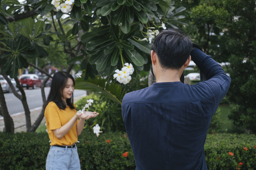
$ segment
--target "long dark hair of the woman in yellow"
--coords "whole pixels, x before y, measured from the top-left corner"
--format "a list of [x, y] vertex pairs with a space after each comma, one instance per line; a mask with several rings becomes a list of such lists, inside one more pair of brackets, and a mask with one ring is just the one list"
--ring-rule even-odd
[[[55, 104], [60, 109], [65, 110], [66, 104], [62, 100], [62, 96], [63, 96], [62, 92], [63, 92], [63, 89], [65, 88], [65, 85], [66, 85], [66, 82], [67, 82], [68, 78], [71, 78], [72, 81], [73, 81], [73, 84], [75, 85], [74, 78], [69, 73], [64, 72], [64, 71], [59, 71], [59, 72], [54, 74], [52, 84], [51, 84], [50, 93], [49, 93], [47, 101], [46, 101], [46, 105], [49, 102], [55, 102]], [[72, 93], [71, 98], [67, 99], [66, 102], [67, 102], [67, 105], [71, 109], [75, 109], [74, 105], [73, 105], [73, 93]]]

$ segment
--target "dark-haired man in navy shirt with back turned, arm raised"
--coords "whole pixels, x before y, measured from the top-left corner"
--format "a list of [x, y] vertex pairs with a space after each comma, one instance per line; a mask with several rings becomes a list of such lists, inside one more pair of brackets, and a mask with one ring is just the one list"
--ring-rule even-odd
[[[207, 170], [207, 130], [231, 79], [197, 47], [178, 30], [160, 32], [151, 51], [156, 83], [123, 98], [122, 116], [136, 170]], [[180, 81], [191, 59], [207, 81]]]

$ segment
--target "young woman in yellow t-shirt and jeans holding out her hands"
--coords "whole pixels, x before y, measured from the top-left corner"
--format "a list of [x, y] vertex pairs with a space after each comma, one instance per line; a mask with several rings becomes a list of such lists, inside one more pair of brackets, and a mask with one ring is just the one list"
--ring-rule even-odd
[[50, 138], [50, 151], [46, 170], [80, 170], [77, 136], [86, 119], [95, 118], [97, 112], [77, 112], [73, 105], [74, 79], [67, 72], [55, 73], [45, 109], [46, 127]]

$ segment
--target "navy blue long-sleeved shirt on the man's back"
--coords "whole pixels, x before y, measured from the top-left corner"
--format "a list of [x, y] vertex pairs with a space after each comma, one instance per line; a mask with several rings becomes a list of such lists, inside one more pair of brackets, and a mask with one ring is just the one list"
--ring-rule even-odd
[[230, 78], [212, 59], [205, 64], [212, 65], [208, 81], [191, 86], [155, 83], [123, 98], [122, 114], [137, 170], [207, 170], [206, 134]]

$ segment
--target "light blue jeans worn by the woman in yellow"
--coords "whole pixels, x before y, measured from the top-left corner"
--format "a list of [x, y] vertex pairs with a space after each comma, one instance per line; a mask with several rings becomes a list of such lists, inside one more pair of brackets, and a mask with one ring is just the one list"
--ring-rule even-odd
[[77, 147], [51, 146], [46, 159], [46, 170], [81, 170]]

